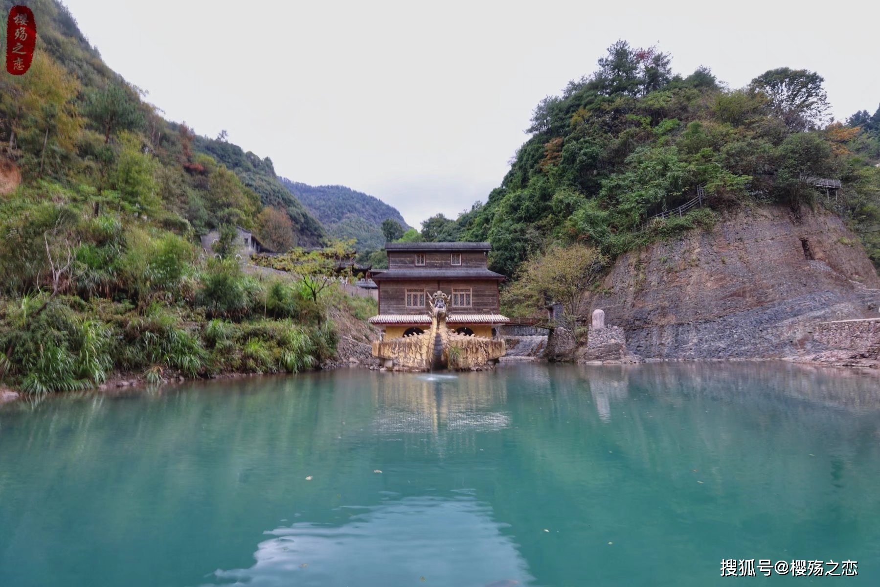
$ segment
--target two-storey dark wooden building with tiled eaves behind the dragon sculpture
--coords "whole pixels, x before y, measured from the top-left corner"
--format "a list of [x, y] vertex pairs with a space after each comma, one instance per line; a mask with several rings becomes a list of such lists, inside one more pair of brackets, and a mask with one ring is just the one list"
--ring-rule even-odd
[[451, 299], [446, 323], [460, 334], [491, 338], [509, 319], [499, 313], [498, 284], [504, 275], [487, 266], [488, 243], [386, 243], [388, 268], [372, 271], [379, 313], [370, 323], [385, 338], [421, 334], [430, 324], [428, 295]]

